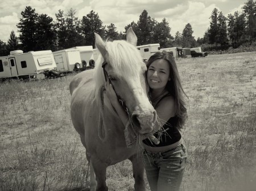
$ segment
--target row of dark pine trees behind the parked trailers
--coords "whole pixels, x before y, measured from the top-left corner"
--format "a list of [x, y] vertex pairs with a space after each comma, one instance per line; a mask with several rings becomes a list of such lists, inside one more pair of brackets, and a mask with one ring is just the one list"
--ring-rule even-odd
[[94, 32], [105, 40], [125, 39], [126, 31], [133, 27], [138, 37], [138, 45], [159, 43], [160, 48], [182, 46], [192, 48], [200, 45], [212, 49], [237, 48], [244, 43], [252, 43], [256, 37], [256, 1], [248, 0], [243, 11], [229, 14], [226, 18], [221, 11], [214, 9], [210, 16], [210, 27], [202, 38], [195, 40], [191, 24], [187, 23], [180, 33], [171, 35], [171, 27], [166, 18], [158, 22], [142, 11], [137, 22], [125, 27], [125, 32], [117, 32], [113, 23], [104, 26], [100, 17], [93, 10], [82, 19], [78, 19], [75, 9], [67, 13], [59, 10], [53, 20], [47, 14], [38, 14], [31, 6], [21, 12], [22, 18], [16, 24], [19, 36], [11, 31], [7, 43], [0, 40], [0, 56], [6, 56], [11, 50], [22, 49], [23, 52], [37, 50], [62, 50], [74, 46], [92, 45]]

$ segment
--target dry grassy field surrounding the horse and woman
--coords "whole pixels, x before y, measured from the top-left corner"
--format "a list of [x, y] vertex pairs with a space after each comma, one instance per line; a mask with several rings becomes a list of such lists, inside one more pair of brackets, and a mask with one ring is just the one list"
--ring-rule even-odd
[[[255, 190], [256, 52], [177, 66], [189, 96], [181, 190]], [[73, 75], [0, 83], [0, 190], [89, 190], [85, 148], [69, 114]], [[109, 190], [133, 190], [131, 163], [109, 167], [106, 182]]]

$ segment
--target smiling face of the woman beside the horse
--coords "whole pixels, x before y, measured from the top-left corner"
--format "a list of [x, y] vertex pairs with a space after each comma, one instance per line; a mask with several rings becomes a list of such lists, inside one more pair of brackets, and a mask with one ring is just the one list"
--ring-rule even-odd
[[147, 82], [152, 89], [165, 88], [170, 80], [170, 66], [166, 60], [158, 59], [147, 70]]

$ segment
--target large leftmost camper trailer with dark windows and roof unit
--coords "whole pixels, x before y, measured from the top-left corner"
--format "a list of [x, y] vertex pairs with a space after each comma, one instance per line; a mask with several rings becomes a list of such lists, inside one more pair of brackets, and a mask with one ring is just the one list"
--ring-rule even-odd
[[56, 63], [51, 50], [23, 53], [14, 50], [9, 56], [0, 57], [0, 78], [44, 78], [57, 75]]

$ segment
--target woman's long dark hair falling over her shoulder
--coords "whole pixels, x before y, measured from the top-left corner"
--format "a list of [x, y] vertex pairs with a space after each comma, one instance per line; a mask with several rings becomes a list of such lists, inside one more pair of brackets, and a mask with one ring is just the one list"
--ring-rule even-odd
[[[188, 118], [187, 109], [185, 108], [185, 101], [183, 94], [187, 96], [181, 86], [179, 72], [177, 70], [176, 62], [172, 54], [168, 52], [156, 52], [153, 54], [147, 62], [147, 68], [151, 65], [155, 60], [163, 59], [169, 63], [170, 66], [170, 78], [166, 84], [167, 91], [174, 96], [175, 100], [175, 114], [178, 118], [177, 120], [177, 128], [183, 128], [185, 121]], [[188, 97], [188, 96], [187, 96]]]

